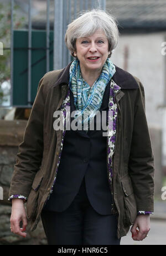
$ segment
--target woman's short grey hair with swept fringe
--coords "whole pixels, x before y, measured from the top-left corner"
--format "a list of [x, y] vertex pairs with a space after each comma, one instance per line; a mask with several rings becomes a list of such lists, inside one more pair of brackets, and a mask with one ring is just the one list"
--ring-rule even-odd
[[98, 30], [105, 32], [108, 38], [108, 51], [110, 51], [108, 57], [110, 57], [111, 51], [117, 46], [119, 31], [116, 18], [101, 9], [81, 12], [80, 16], [68, 25], [65, 43], [71, 55], [75, 57], [77, 38], [91, 36]]

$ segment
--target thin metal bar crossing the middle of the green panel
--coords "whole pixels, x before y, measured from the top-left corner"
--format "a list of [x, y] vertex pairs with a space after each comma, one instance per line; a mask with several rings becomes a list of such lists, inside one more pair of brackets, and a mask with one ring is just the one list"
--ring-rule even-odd
[[32, 21], [31, 21], [31, 0], [29, 0], [28, 8], [28, 105], [31, 105], [31, 63], [32, 63]]

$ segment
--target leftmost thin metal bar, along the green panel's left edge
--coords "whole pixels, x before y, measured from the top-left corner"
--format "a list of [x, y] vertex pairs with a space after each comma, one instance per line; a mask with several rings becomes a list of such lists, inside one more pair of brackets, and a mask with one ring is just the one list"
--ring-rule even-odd
[[11, 95], [11, 106], [13, 106], [13, 8], [14, 8], [14, 0], [11, 0], [11, 89], [10, 89], [10, 95]]

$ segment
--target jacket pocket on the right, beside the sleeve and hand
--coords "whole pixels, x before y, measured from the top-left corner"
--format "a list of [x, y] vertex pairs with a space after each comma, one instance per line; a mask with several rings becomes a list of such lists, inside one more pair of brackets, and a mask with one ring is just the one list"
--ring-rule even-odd
[[125, 227], [131, 226], [137, 216], [137, 205], [136, 199], [133, 193], [133, 187], [131, 178], [126, 175], [121, 180], [123, 189], [123, 199], [124, 199], [124, 211], [123, 211], [123, 224]]

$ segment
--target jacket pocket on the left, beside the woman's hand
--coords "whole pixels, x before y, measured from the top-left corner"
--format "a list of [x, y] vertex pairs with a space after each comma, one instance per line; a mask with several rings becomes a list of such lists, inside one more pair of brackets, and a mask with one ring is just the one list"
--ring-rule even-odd
[[37, 208], [38, 208], [38, 198], [39, 198], [39, 188], [43, 180], [43, 174], [37, 173], [33, 184], [32, 184], [32, 190], [30, 191], [30, 194], [28, 196], [27, 201], [27, 218], [34, 220], [37, 215]]

